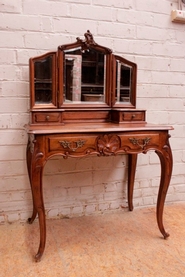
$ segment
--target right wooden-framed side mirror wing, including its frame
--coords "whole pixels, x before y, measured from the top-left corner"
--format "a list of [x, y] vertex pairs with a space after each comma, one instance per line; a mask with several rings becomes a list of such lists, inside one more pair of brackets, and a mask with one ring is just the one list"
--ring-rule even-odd
[[136, 107], [136, 79], [137, 65], [120, 56], [113, 56], [113, 107]]

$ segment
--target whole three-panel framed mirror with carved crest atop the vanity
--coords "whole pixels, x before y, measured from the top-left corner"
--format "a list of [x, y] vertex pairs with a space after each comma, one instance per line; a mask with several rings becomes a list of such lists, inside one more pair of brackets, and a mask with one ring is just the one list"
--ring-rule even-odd
[[135, 108], [136, 64], [85, 39], [30, 59], [31, 108]]

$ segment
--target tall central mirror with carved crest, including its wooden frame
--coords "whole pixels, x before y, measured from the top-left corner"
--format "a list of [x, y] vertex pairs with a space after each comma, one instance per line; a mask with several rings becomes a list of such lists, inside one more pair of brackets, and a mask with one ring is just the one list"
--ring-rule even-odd
[[97, 44], [90, 31], [84, 36], [58, 47], [59, 107], [111, 105], [112, 51]]

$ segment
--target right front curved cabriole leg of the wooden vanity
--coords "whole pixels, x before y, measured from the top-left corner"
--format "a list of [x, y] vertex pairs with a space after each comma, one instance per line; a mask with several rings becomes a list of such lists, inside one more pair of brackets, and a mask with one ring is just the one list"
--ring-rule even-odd
[[170, 184], [173, 166], [172, 152], [169, 143], [167, 143], [163, 147], [162, 152], [156, 151], [156, 153], [158, 154], [161, 162], [161, 180], [157, 199], [156, 215], [159, 230], [164, 236], [164, 239], [166, 239], [167, 237], [169, 237], [169, 234], [165, 231], [163, 226], [163, 210], [166, 193]]

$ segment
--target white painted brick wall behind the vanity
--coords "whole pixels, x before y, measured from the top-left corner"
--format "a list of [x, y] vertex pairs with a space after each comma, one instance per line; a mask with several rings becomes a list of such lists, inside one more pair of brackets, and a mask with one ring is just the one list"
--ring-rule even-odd
[[[25, 220], [32, 210], [24, 130], [29, 121], [28, 59], [83, 38], [87, 29], [99, 44], [138, 64], [137, 107], [147, 109], [147, 120], [174, 126], [166, 201], [185, 201], [185, 25], [170, 21], [177, 2], [0, 1], [0, 222]], [[158, 157], [139, 155], [135, 206], [156, 204], [159, 179]], [[127, 205], [126, 183], [126, 156], [55, 157], [44, 170], [47, 217], [121, 209]]]

